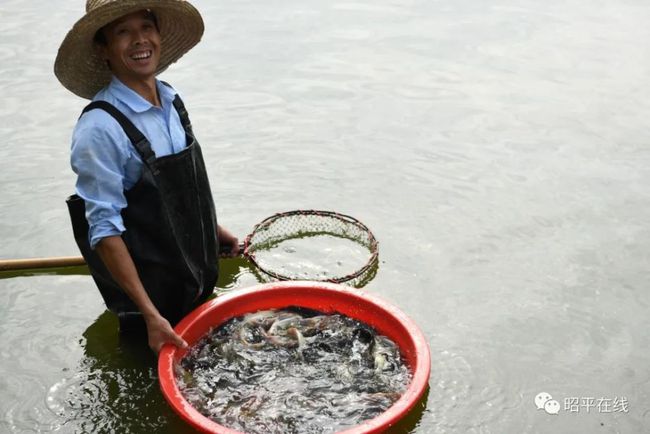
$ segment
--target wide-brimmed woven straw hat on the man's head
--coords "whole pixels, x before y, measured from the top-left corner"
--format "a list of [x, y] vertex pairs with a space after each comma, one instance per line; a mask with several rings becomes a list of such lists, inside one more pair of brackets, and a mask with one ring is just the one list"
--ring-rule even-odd
[[71, 92], [92, 99], [112, 73], [99, 55], [93, 38], [97, 30], [116, 19], [149, 9], [160, 30], [160, 64], [156, 74], [195, 46], [203, 35], [203, 19], [185, 0], [87, 0], [86, 15], [68, 32], [54, 62], [54, 74]]

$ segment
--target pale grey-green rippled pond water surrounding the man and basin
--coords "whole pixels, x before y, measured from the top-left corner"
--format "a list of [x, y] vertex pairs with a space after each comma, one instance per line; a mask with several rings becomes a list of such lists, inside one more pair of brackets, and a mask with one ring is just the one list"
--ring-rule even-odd
[[[220, 223], [356, 217], [379, 241], [363, 290], [429, 342], [395, 433], [650, 431], [647, 1], [193, 4], [203, 40], [161, 78]], [[78, 254], [64, 200], [86, 101], [52, 69], [83, 7], [0, 6], [2, 259]], [[228, 259], [217, 292], [258, 282]], [[0, 274], [0, 341], [2, 433], [191, 432], [83, 268]]]

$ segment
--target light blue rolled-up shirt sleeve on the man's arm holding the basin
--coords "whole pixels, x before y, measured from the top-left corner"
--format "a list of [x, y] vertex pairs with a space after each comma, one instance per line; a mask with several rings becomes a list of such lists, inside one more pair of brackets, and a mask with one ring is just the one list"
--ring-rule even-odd
[[[105, 237], [124, 232], [125, 171], [128, 139], [101, 110], [86, 113], [72, 137], [70, 163], [77, 174], [76, 192], [86, 203], [88, 239], [94, 249]], [[125, 143], [126, 141], [126, 143]]]

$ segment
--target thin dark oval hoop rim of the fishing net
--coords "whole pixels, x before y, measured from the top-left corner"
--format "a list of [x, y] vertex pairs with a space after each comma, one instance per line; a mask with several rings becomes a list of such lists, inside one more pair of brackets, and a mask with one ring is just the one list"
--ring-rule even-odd
[[[264, 273], [265, 275], [273, 279], [281, 280], [281, 281], [296, 280], [295, 276], [288, 276], [279, 273], [261, 264], [260, 261], [257, 260], [255, 252], [259, 248], [258, 246], [261, 244], [259, 241], [257, 241], [257, 239], [260, 237], [264, 238], [264, 236], [261, 234], [263, 234], [265, 231], [270, 230], [270, 228], [272, 228], [274, 225], [281, 225], [283, 220], [291, 220], [295, 218], [304, 218], [304, 217], [323, 219], [323, 221], [329, 219], [335, 221], [337, 224], [342, 225], [343, 227], [354, 230], [358, 234], [362, 235], [362, 239], [348, 237], [349, 233], [341, 234], [341, 233], [336, 233], [334, 230], [331, 231], [327, 230], [324, 232], [331, 235], [340, 236], [342, 238], [348, 238], [350, 240], [353, 240], [358, 244], [367, 248], [369, 251], [368, 260], [366, 261], [366, 263], [361, 268], [359, 268], [358, 270], [352, 273], [346, 274], [344, 276], [328, 277], [328, 278], [321, 278], [321, 279], [315, 277], [309, 277], [309, 280], [317, 281], [317, 282], [331, 282], [331, 283], [350, 282], [352, 280], [359, 279], [361, 276], [364, 276], [364, 274], [369, 273], [370, 271], [372, 271], [374, 267], [376, 267], [378, 262], [378, 257], [379, 257], [378, 243], [377, 243], [377, 239], [370, 231], [370, 229], [365, 224], [361, 223], [359, 220], [355, 219], [354, 217], [345, 214], [340, 214], [333, 211], [294, 210], [294, 211], [277, 213], [267, 217], [266, 219], [262, 220], [257, 225], [255, 225], [253, 231], [244, 240], [244, 256], [255, 266], [255, 268], [257, 268], [259, 271], [261, 271], [262, 273]], [[305, 232], [310, 232], [308, 230], [310, 229], [309, 226], [305, 226], [305, 229], [307, 229]], [[317, 231], [312, 230], [311, 232], [316, 233]], [[293, 236], [296, 236], [299, 233], [301, 232], [296, 231]], [[289, 232], [289, 234], [291, 234], [291, 232]], [[289, 238], [292, 238], [292, 236], [287, 236], [285, 239], [289, 239]], [[265, 239], [265, 241], [267, 240], [268, 237], [267, 239]], [[363, 282], [367, 281], [367, 279], [360, 279], [360, 280]]]

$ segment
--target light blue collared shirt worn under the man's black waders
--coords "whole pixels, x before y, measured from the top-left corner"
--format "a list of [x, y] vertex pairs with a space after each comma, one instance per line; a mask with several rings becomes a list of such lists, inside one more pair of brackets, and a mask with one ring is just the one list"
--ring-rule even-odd
[[[161, 107], [156, 107], [117, 78], [93, 101], [113, 104], [151, 143], [157, 157], [175, 154], [186, 146], [185, 131], [172, 101], [176, 91], [156, 80]], [[104, 110], [91, 110], [77, 122], [72, 134], [72, 170], [76, 193], [86, 202], [88, 238], [95, 248], [105, 237], [125, 231], [121, 212], [124, 191], [140, 179], [142, 160], [117, 121]]]

